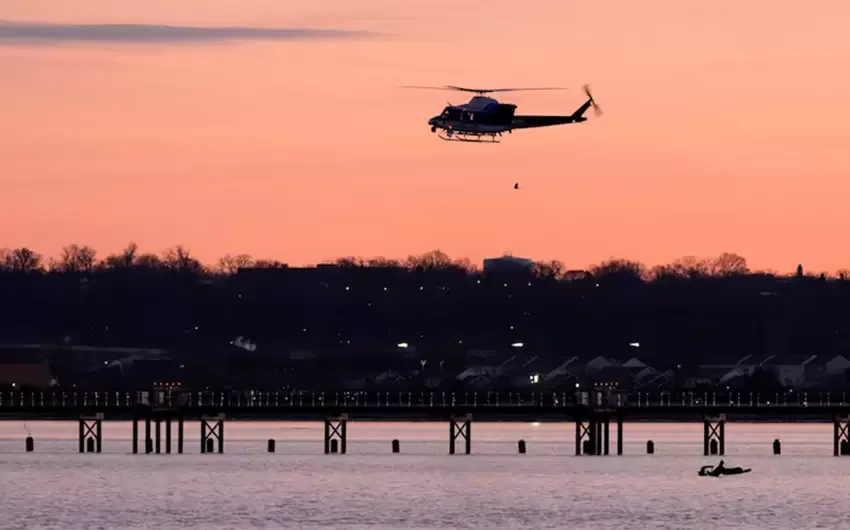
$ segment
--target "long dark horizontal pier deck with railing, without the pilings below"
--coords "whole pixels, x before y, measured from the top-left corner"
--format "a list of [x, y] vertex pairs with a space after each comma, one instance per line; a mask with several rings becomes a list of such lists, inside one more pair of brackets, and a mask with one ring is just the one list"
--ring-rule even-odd
[[706, 415], [827, 418], [850, 414], [850, 395], [827, 392], [257, 392], [19, 391], [0, 392], [0, 418], [109, 419], [141, 415], [225, 414], [229, 418], [300, 419], [348, 414], [350, 419], [476, 419], [564, 421], [590, 415], [629, 419], [701, 419]]

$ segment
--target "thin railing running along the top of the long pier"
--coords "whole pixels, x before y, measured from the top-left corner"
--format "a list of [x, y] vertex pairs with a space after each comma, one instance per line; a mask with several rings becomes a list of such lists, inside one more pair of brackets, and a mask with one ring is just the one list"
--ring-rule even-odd
[[11, 391], [0, 392], [0, 411], [38, 408], [774, 408], [850, 406], [850, 392], [260, 392], [188, 391]]

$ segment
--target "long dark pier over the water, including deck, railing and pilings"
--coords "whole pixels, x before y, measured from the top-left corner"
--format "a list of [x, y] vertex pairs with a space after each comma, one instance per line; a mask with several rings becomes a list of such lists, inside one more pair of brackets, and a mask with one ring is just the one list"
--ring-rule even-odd
[[[616, 454], [623, 454], [627, 421], [703, 422], [703, 454], [724, 455], [730, 418], [747, 421], [831, 421], [835, 456], [850, 456], [850, 401], [844, 393], [626, 392], [259, 392], [259, 391], [16, 391], [0, 393], [0, 420], [76, 420], [79, 451], [100, 453], [104, 421], [132, 421], [132, 452], [139, 452], [145, 422], [145, 453], [171, 453], [172, 422], [177, 453], [183, 453], [185, 419], [200, 420], [201, 453], [223, 453], [227, 420], [323, 421], [324, 452], [347, 453], [350, 421], [429, 421], [449, 425], [448, 452], [472, 454], [473, 421], [575, 424], [575, 454], [610, 455], [610, 424], [617, 423]], [[153, 423], [154, 431], [151, 432]], [[568, 440], [567, 429], [564, 440]], [[30, 442], [27, 442], [30, 444]], [[524, 453], [525, 443], [521, 444]], [[648, 441], [647, 452], [654, 446]], [[29, 447], [29, 446], [28, 446]], [[774, 451], [779, 454], [778, 449]]]

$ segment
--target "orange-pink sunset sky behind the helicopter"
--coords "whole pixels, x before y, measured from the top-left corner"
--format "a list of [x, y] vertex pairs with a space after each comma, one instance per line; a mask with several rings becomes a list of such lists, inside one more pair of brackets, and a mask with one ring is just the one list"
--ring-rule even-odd
[[[850, 267], [846, 0], [3, 0], [0, 19], [379, 34], [7, 31], [0, 247]], [[396, 88], [570, 87], [501, 98], [555, 114], [583, 83], [603, 116], [499, 145], [429, 131], [467, 95]]]

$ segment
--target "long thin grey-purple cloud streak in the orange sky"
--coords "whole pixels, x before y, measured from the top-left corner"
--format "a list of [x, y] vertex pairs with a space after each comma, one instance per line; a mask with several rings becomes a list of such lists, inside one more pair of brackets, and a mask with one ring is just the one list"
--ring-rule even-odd
[[166, 26], [159, 24], [58, 24], [0, 21], [0, 45], [63, 42], [191, 43], [248, 40], [345, 39], [370, 32], [312, 28]]

